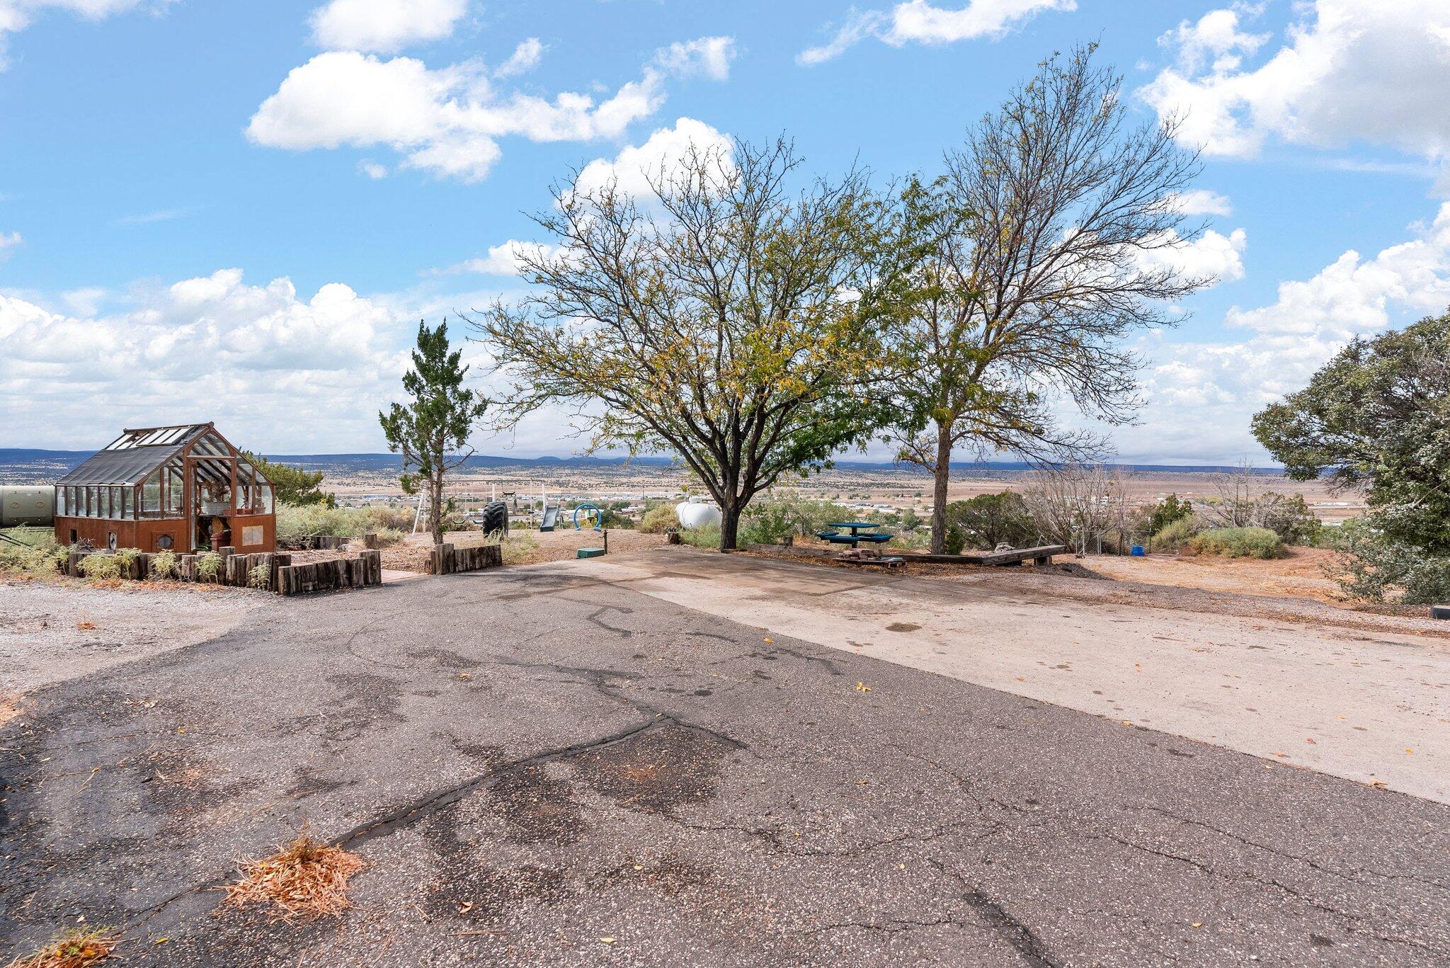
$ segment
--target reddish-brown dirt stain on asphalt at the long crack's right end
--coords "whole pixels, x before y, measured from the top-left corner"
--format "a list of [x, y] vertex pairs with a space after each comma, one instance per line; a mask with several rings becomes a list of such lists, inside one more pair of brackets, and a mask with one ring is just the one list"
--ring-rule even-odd
[[621, 807], [654, 814], [715, 798], [721, 760], [729, 752], [722, 740], [664, 726], [574, 758], [580, 778]]

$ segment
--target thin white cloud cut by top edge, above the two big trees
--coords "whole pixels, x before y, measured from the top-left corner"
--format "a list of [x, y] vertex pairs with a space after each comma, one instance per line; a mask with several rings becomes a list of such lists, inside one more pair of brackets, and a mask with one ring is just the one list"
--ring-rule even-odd
[[822, 64], [871, 36], [892, 46], [998, 39], [1038, 13], [1076, 9], [1077, 0], [967, 0], [961, 7], [906, 0], [889, 13], [853, 9], [826, 44], [806, 48], [796, 55], [796, 62]]

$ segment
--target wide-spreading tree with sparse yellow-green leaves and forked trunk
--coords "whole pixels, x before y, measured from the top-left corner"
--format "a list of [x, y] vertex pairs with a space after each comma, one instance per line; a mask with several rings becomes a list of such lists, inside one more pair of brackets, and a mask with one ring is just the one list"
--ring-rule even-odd
[[677, 454], [721, 550], [751, 498], [886, 422], [880, 335], [924, 254], [863, 173], [799, 165], [776, 141], [687, 151], [642, 194], [574, 173], [535, 216], [557, 245], [519, 254], [532, 293], [473, 316], [509, 376], [503, 422], [564, 403], [590, 450]]

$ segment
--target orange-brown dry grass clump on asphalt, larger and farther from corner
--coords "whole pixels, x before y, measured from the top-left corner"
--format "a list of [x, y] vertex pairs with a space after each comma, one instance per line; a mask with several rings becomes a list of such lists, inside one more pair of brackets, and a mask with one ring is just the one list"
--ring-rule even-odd
[[242, 878], [226, 885], [225, 904], [271, 904], [274, 922], [310, 922], [352, 907], [348, 878], [367, 866], [355, 853], [303, 833], [261, 861], [244, 859]]

